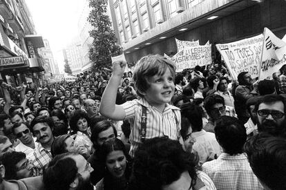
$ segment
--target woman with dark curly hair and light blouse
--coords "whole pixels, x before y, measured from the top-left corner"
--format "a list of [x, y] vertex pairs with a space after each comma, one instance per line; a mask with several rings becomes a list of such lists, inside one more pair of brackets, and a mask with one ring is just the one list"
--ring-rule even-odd
[[71, 137], [77, 146], [85, 146], [89, 153], [92, 152], [93, 143], [90, 141], [90, 120], [88, 115], [78, 110], [70, 117]]

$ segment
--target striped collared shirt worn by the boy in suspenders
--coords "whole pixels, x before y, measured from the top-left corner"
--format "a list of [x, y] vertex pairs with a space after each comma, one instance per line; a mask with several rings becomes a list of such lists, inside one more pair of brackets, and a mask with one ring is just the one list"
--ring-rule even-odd
[[141, 117], [142, 106], [146, 107], [146, 139], [153, 137], [168, 136], [172, 140], [178, 140], [181, 130], [181, 113], [180, 108], [166, 104], [163, 111], [151, 106], [146, 99], [133, 99], [132, 101], [122, 104], [125, 111], [124, 120], [131, 119], [130, 154], [133, 156], [135, 149], [141, 143]]

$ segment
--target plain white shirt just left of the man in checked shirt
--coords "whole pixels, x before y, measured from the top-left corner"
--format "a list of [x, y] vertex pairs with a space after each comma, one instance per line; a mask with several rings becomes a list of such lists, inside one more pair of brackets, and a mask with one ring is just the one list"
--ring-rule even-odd
[[193, 150], [198, 152], [200, 162], [204, 163], [207, 160], [214, 160], [222, 153], [222, 149], [216, 135], [207, 131], [193, 132], [191, 135], [196, 139], [193, 144]]

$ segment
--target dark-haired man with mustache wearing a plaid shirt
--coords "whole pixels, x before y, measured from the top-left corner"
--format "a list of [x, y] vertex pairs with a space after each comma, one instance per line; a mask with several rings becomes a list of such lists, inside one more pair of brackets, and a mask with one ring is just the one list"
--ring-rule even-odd
[[54, 129], [55, 124], [51, 117], [38, 116], [32, 120], [31, 130], [39, 144], [37, 144], [35, 151], [30, 153], [27, 158], [39, 169], [39, 175], [43, 173], [43, 169], [46, 168], [48, 162], [52, 160], [50, 149], [54, 141]]

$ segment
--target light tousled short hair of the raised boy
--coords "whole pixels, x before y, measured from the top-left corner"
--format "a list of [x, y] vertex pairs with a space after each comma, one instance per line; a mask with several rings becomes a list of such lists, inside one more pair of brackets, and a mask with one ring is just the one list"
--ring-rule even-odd
[[175, 80], [175, 64], [173, 61], [158, 54], [142, 57], [137, 62], [133, 73], [137, 94], [140, 95], [140, 97], [144, 97], [142, 93], [146, 92], [150, 87], [148, 78], [154, 75], [164, 75], [167, 68], [169, 68], [173, 75], [173, 80]]

